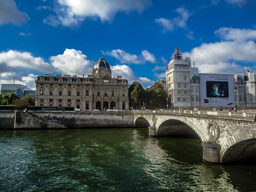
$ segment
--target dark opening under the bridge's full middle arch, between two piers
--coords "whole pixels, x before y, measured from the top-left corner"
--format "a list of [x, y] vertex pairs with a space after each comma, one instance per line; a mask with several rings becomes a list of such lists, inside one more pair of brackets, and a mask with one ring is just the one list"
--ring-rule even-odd
[[177, 119], [168, 119], [161, 123], [156, 136], [201, 139], [192, 127]]

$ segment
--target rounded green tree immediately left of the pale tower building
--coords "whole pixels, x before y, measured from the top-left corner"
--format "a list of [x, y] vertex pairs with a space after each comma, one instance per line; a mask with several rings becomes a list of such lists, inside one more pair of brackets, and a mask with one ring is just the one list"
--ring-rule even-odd
[[155, 83], [147, 89], [147, 101], [151, 109], [164, 108], [166, 105], [167, 93], [163, 85]]

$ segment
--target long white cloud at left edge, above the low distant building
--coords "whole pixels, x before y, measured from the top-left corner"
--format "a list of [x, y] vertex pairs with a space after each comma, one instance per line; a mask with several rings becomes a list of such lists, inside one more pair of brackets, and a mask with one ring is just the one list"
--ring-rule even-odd
[[0, 53], [0, 63], [17, 70], [17, 68], [36, 69], [38, 71], [54, 71], [49, 63], [40, 57], [36, 58], [29, 52], [7, 51]]

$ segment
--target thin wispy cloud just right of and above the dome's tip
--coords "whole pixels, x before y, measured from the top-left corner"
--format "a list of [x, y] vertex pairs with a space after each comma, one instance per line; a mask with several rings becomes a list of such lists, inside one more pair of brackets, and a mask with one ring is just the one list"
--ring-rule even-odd
[[119, 62], [125, 63], [125, 64], [144, 64], [146, 63], [146, 61], [149, 61], [152, 63], [156, 62], [155, 56], [149, 53], [147, 50], [141, 51], [141, 55], [130, 54], [121, 49], [107, 51], [107, 52], [101, 51], [101, 52], [103, 54], [114, 57], [118, 59]]

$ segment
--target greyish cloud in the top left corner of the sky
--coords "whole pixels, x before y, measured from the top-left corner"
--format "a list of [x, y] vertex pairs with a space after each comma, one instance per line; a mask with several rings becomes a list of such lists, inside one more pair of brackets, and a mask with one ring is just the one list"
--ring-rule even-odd
[[18, 10], [14, 0], [0, 1], [0, 25], [13, 23], [21, 25], [28, 20], [28, 15]]

